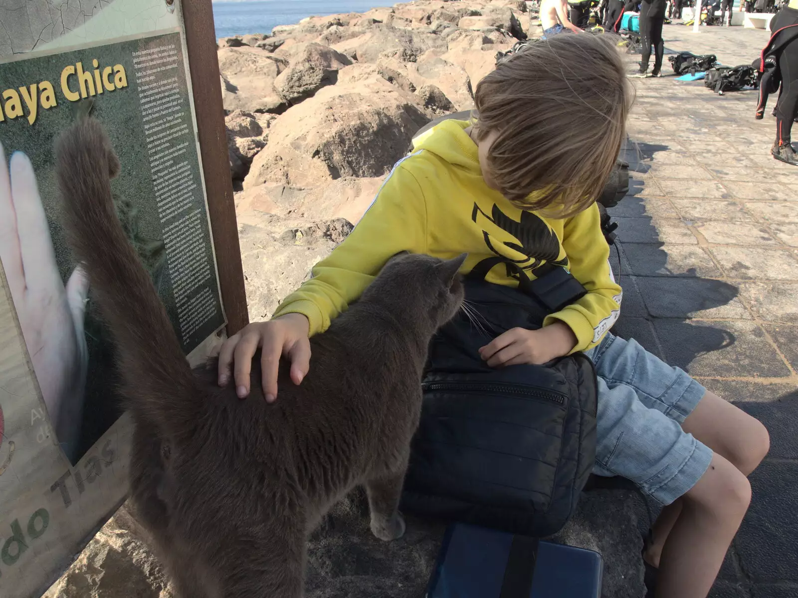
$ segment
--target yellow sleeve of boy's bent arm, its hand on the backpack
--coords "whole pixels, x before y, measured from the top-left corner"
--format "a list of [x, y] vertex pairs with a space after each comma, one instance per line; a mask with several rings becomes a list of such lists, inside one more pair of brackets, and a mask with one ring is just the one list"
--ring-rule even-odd
[[610, 246], [601, 231], [599, 207], [593, 205], [568, 219], [563, 248], [571, 273], [587, 289], [587, 295], [552, 313], [543, 325], [564, 322], [576, 335], [574, 351], [585, 351], [598, 344], [618, 320], [623, 294], [610, 269]]

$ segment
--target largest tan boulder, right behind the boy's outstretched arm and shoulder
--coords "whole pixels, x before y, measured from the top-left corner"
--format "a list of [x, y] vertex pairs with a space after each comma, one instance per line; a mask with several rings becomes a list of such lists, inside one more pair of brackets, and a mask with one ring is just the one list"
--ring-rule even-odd
[[385, 81], [375, 66], [346, 67], [338, 85], [275, 121], [243, 187], [318, 187], [342, 176], [384, 175], [430, 117], [418, 96]]

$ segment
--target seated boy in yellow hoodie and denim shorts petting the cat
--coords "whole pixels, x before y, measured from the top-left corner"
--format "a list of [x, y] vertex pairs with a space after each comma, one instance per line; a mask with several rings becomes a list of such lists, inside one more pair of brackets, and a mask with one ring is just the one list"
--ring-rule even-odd
[[[644, 554], [658, 567], [655, 596], [698, 598], [709, 592], [749, 506], [746, 476], [767, 453], [768, 434], [685, 372], [606, 332], [622, 293], [594, 199], [625, 136], [630, 96], [621, 57], [602, 37], [559, 35], [500, 64], [477, 86], [476, 123], [446, 120], [417, 139], [349, 238], [275, 319], [227, 340], [219, 384], [230, 380], [235, 356], [235, 384], [246, 396], [258, 347], [267, 400], [277, 395], [281, 354], [300, 384], [309, 334], [326, 329], [401, 250], [444, 258], [468, 252], [464, 273], [497, 256], [531, 277], [544, 262], [563, 265], [587, 295], [542, 329], [512, 329], [480, 354], [495, 367], [575, 351], [591, 356], [599, 375], [595, 471], [630, 478], [666, 505]], [[486, 280], [517, 284], [504, 264]]]

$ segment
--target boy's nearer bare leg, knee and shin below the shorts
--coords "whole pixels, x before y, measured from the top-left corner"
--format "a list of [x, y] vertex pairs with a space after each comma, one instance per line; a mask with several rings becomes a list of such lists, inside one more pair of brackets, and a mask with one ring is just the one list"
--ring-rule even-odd
[[751, 486], [716, 453], [681, 502], [662, 548], [656, 598], [706, 598], [751, 502]]

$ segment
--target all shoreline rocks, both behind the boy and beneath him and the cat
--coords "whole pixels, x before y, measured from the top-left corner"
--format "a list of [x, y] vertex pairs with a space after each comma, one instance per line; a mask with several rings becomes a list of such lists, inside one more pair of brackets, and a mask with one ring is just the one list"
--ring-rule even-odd
[[[523, 0], [420, 0], [220, 39], [251, 320], [270, 317], [346, 238], [419, 128], [472, 108], [496, 53], [538, 35]], [[385, 543], [369, 533], [364, 509], [356, 494], [314, 533], [308, 598], [423, 596], [443, 526], [409, 518], [407, 535]], [[556, 538], [602, 553], [607, 598], [645, 594], [641, 512], [627, 491], [586, 493]], [[173, 594], [144, 530], [123, 506], [45, 596]]]

